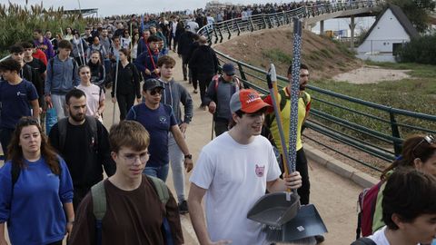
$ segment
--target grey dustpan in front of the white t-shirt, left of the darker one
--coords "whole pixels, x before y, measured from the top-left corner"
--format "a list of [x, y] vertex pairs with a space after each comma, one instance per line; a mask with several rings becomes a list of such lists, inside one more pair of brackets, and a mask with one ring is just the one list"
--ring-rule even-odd
[[[291, 199], [287, 199], [290, 196]], [[294, 218], [300, 209], [300, 196], [294, 192], [273, 192], [264, 195], [248, 211], [247, 218], [262, 224], [280, 227]]]

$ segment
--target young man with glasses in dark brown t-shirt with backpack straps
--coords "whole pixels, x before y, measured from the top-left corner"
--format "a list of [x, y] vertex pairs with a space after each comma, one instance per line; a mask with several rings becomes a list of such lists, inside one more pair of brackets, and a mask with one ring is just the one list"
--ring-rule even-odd
[[[100, 236], [95, 226], [94, 195], [89, 193], [76, 212], [69, 244], [98, 244], [97, 237], [102, 245], [183, 244], [180, 216], [171, 191], [166, 190], [168, 200], [163, 204], [154, 181], [143, 174], [149, 161], [150, 139], [138, 122], [122, 121], [112, 126], [109, 142], [116, 171], [103, 182], [107, 205]], [[159, 186], [167, 189], [163, 183]]]

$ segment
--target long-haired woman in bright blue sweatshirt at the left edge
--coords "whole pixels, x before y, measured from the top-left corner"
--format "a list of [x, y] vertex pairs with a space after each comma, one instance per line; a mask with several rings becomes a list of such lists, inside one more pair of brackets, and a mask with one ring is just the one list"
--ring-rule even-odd
[[[0, 169], [0, 244], [62, 244], [74, 222], [73, 181], [31, 117], [16, 125]], [[65, 216], [66, 213], [66, 216]]]

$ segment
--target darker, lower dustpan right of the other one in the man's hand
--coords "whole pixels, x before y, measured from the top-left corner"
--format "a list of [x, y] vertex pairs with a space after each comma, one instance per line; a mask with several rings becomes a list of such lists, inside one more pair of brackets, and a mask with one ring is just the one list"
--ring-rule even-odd
[[320, 214], [315, 206], [309, 204], [303, 205], [292, 220], [283, 224], [280, 232], [275, 232], [275, 234], [274, 232], [267, 232], [267, 240], [297, 241], [322, 235], [325, 232], [327, 232], [327, 228]]

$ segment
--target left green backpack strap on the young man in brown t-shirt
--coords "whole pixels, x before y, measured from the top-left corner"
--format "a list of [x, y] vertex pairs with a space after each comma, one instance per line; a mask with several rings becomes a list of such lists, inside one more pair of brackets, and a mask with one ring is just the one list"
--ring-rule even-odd
[[102, 244], [103, 218], [106, 213], [106, 191], [104, 190], [104, 181], [100, 181], [91, 187], [93, 197], [93, 210], [95, 217], [95, 234], [97, 245]]

